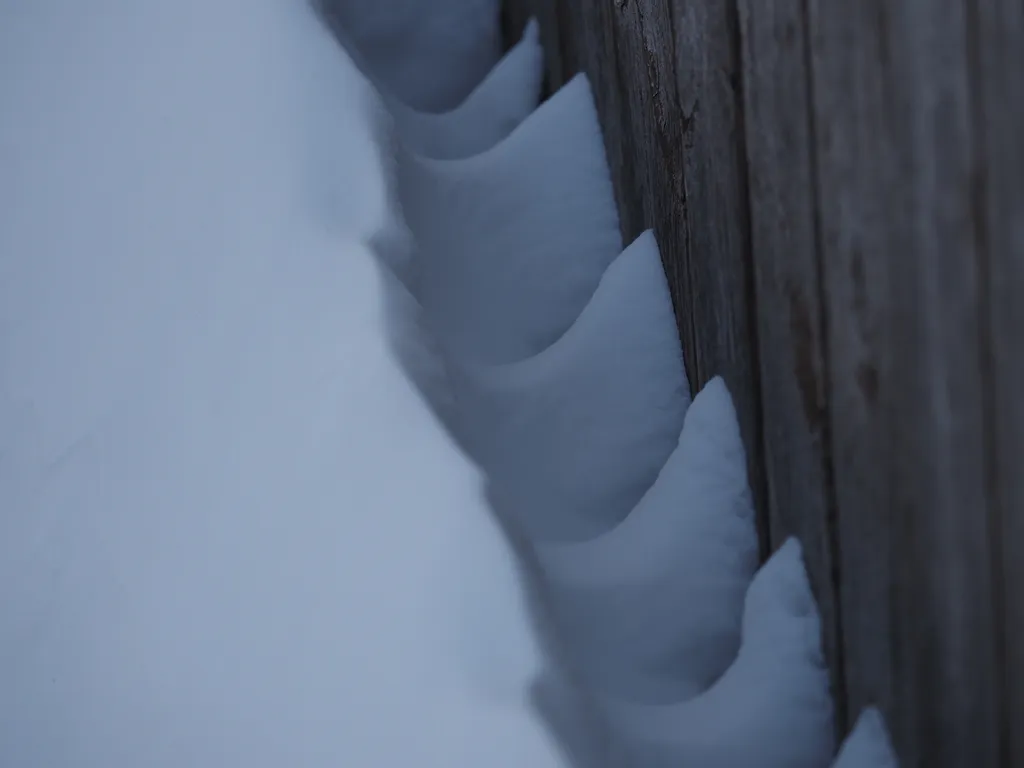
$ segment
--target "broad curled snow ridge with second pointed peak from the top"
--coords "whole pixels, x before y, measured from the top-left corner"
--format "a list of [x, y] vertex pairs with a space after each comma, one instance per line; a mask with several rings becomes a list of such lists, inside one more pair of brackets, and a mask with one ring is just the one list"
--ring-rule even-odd
[[458, 161], [408, 153], [397, 197], [414, 293], [459, 355], [509, 362], [572, 324], [622, 250], [601, 128], [579, 75], [504, 141]]

